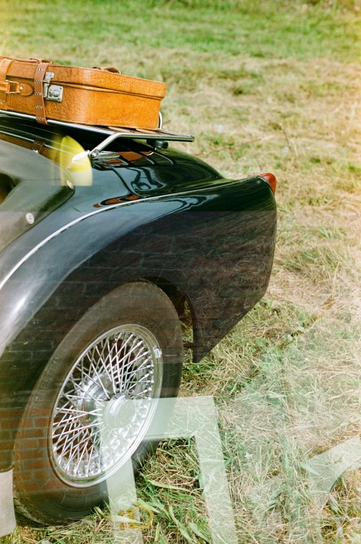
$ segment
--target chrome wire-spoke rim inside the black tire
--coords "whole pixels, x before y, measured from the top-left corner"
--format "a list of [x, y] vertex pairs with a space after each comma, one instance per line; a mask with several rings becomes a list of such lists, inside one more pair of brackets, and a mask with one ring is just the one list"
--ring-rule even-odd
[[87, 487], [137, 450], [161, 392], [161, 349], [147, 328], [125, 324], [96, 338], [64, 380], [51, 416], [51, 462], [60, 479]]

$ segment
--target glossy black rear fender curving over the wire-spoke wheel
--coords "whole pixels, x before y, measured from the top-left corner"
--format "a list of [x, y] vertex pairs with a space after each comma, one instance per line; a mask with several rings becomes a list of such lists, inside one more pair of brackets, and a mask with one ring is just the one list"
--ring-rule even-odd
[[275, 232], [274, 195], [252, 178], [105, 208], [32, 248], [0, 289], [1, 409], [14, 416], [8, 426], [16, 428], [73, 324], [123, 283], [157, 278], [177, 286], [191, 303], [200, 360], [263, 296]]

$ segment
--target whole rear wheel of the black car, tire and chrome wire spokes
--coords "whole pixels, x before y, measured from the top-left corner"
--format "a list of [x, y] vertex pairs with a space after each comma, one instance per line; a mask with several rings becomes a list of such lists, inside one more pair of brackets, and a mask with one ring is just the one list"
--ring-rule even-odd
[[39, 523], [66, 523], [107, 500], [154, 448], [157, 398], [177, 396], [182, 331], [168, 297], [130, 283], [93, 306], [53, 353], [15, 442], [15, 504]]

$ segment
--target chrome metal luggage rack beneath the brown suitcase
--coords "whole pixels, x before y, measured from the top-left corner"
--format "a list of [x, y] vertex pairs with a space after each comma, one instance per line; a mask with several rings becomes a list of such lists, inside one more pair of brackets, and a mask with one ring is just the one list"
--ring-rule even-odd
[[[16, 112], [9, 112], [8, 110], [0, 109], [1, 114], [20, 117], [21, 119], [32, 119], [36, 121], [35, 115], [19, 114]], [[53, 121], [48, 119], [49, 125], [56, 125], [64, 128], [76, 128], [77, 130], [84, 130], [85, 132], [92, 132], [93, 134], [104, 134], [106, 137], [103, 141], [98, 143], [96, 148], [89, 150], [88, 155], [91, 159], [96, 159], [100, 152], [102, 152], [109, 143], [119, 138], [127, 138], [134, 140], [146, 140], [155, 148], [166, 149], [168, 147], [168, 141], [194, 141], [194, 136], [191, 134], [182, 134], [181, 132], [171, 132], [169, 130], [163, 130], [163, 120], [161, 113], [159, 113], [159, 128], [155, 130], [138, 129], [138, 128], [125, 128], [125, 127], [100, 127], [96, 125], [79, 125], [77, 123], [64, 123], [64, 121]], [[44, 126], [44, 125], [43, 125]]]

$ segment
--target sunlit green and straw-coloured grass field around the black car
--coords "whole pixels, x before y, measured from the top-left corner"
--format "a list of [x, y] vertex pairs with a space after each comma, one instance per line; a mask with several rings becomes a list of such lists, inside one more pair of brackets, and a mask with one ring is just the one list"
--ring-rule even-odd
[[[359, 471], [319, 516], [302, 468], [361, 425], [360, 2], [0, 8], [1, 55], [164, 80], [164, 124], [196, 136], [183, 148], [234, 179], [275, 173], [270, 288], [199, 365], [186, 358], [181, 394], [215, 397], [240, 543], [360, 543]], [[192, 441], [164, 442], [143, 468], [139, 498], [155, 509], [146, 543], [209, 541], [197, 475]], [[260, 506], [254, 490], [275, 475], [283, 493]], [[110, 542], [112, 523], [100, 511], [67, 528], [23, 521], [2, 544], [38, 541]]]

